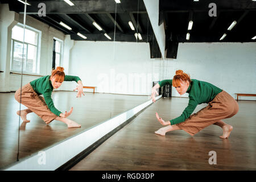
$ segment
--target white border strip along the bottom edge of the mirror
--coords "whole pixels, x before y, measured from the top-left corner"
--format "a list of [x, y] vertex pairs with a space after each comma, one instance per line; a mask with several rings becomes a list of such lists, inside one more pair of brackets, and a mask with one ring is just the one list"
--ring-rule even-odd
[[[156, 97], [156, 100], [161, 98]], [[104, 137], [110, 131], [127, 121], [139, 111], [152, 103], [152, 100], [144, 102], [141, 105], [134, 107], [122, 114], [117, 115], [105, 122], [94, 126], [83, 133], [77, 134], [75, 137], [69, 138], [46, 148], [44, 151], [39, 151], [38, 154], [31, 155], [30, 157], [14, 163], [11, 167], [6, 168], [6, 171], [52, 171], [69, 160], [75, 157], [80, 152], [84, 151], [98, 139]]]

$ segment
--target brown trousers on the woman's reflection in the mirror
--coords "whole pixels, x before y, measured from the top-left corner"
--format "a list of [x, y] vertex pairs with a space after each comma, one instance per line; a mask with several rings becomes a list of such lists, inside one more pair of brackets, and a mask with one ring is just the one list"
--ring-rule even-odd
[[[20, 102], [20, 94], [21, 94], [21, 102]], [[20, 88], [15, 92], [15, 99], [20, 104], [23, 104], [32, 112], [37, 114], [40, 118], [43, 119], [47, 124], [50, 123], [53, 119], [57, 117], [57, 115], [53, 114], [51, 110], [49, 110], [46, 101], [41, 96], [35, 92], [30, 84], [22, 86], [22, 93], [20, 93]]]

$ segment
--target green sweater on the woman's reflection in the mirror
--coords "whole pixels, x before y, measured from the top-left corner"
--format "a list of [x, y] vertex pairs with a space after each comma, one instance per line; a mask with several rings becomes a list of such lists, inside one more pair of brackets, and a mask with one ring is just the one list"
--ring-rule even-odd
[[[52, 101], [53, 86], [52, 86], [51, 80], [49, 80], [49, 78], [50, 78], [50, 75], [38, 78], [34, 81], [31, 81], [30, 85], [32, 86], [32, 88], [35, 90], [35, 92], [38, 95], [43, 94], [44, 100], [46, 101], [46, 104], [47, 104], [49, 110], [51, 110], [52, 113], [56, 114], [57, 116], [60, 116], [61, 111], [59, 111], [55, 108], [53, 101]], [[77, 76], [65, 75], [65, 78], [64, 78], [64, 81], [78, 82], [79, 80], [81, 80], [81, 79]]]

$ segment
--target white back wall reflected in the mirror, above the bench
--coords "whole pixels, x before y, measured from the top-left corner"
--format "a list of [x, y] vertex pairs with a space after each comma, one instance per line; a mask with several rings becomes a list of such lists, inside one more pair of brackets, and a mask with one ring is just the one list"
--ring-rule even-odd
[[148, 95], [152, 81], [159, 80], [159, 66], [159, 59], [150, 59], [147, 43], [76, 41], [69, 75], [97, 86], [97, 92]]

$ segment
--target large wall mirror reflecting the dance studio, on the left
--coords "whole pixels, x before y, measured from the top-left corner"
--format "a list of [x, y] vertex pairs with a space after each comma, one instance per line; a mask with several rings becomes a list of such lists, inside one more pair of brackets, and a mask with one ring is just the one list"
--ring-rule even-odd
[[[0, 168], [150, 100], [152, 82], [162, 74], [161, 55], [142, 0], [12, 0], [1, 1], [0, 10]], [[40, 82], [33, 82], [57, 67], [82, 81], [81, 98], [75, 80], [51, 93], [56, 109], [65, 113], [73, 108], [68, 119], [81, 127], [57, 120], [46, 124], [15, 100], [16, 90], [27, 84], [43, 92]]]

